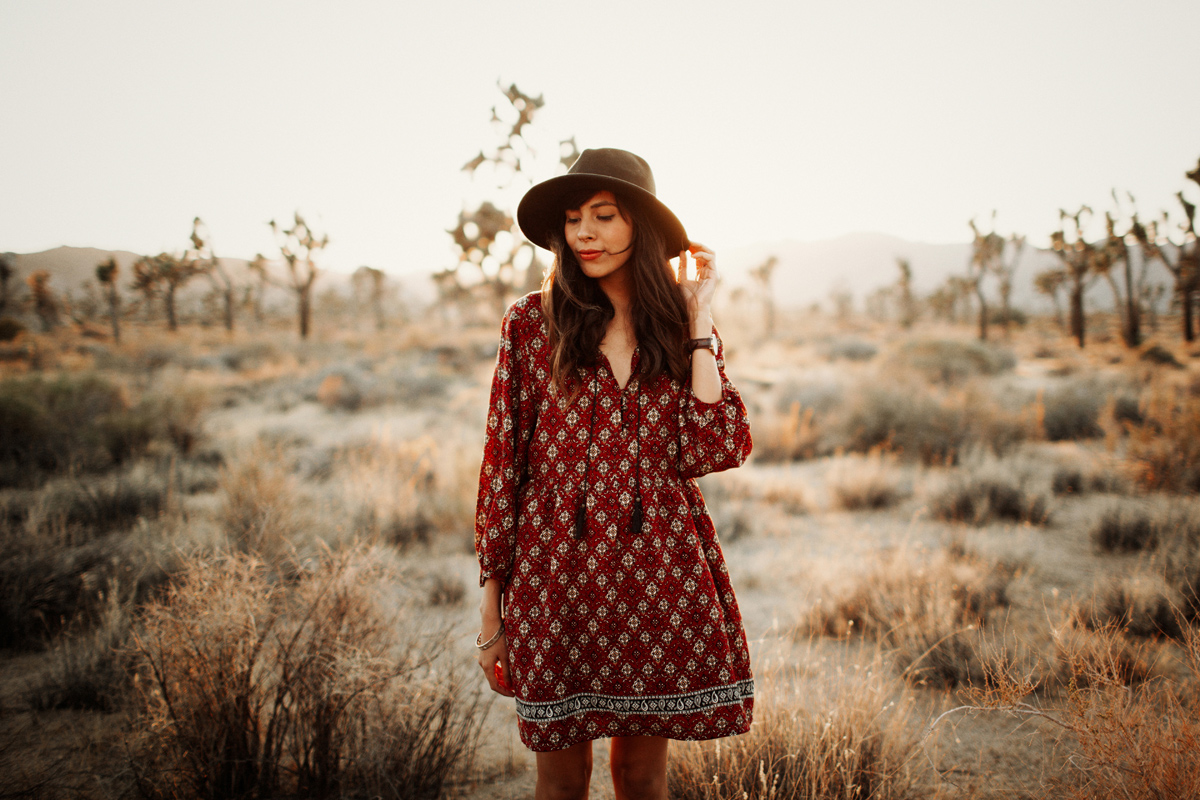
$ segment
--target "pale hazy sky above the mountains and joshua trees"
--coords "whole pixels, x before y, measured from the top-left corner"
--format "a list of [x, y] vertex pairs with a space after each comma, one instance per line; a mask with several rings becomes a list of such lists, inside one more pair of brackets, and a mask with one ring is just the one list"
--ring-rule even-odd
[[1112, 187], [1178, 216], [1196, 30], [1194, 0], [0, 0], [0, 251], [180, 249], [199, 215], [274, 255], [300, 209], [334, 269], [448, 266], [497, 79], [545, 95], [547, 162], [642, 155], [719, 253], [992, 209], [1044, 245]]

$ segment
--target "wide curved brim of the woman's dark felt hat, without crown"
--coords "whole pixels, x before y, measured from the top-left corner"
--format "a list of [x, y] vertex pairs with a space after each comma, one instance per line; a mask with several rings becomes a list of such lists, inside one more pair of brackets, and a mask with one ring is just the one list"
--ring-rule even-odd
[[550, 249], [551, 231], [563, 229], [564, 198], [582, 190], [608, 190], [647, 217], [662, 235], [666, 258], [688, 247], [688, 231], [662, 200], [641, 186], [610, 175], [576, 173], [559, 175], [533, 186], [517, 205], [517, 224], [534, 245]]

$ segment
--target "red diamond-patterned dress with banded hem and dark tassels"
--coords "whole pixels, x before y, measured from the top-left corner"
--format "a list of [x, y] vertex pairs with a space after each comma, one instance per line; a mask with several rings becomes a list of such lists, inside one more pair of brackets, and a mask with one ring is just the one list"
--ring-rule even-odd
[[720, 348], [716, 403], [666, 375], [643, 385], [637, 350], [624, 390], [601, 354], [568, 403], [550, 355], [527, 295], [504, 317], [475, 516], [480, 585], [504, 583], [521, 741], [745, 733], [745, 632], [694, 480], [750, 453]]

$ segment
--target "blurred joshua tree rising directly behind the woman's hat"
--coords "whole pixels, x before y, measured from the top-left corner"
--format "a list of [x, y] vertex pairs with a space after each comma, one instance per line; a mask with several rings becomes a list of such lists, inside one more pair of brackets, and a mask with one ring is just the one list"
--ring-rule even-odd
[[[493, 151], [485, 154], [481, 150], [462, 169], [474, 176], [480, 167], [488, 164], [498, 187], [504, 188], [536, 169], [536, 154], [529, 145], [526, 127], [545, 106], [545, 100], [540, 95], [524, 94], [516, 84], [500, 86], [500, 91], [508, 107], [503, 114], [492, 107], [492, 121], [502, 122], [502, 116], [514, 121], [505, 122], [508, 130]], [[570, 167], [577, 157], [574, 138], [559, 142], [562, 164]], [[541, 285], [542, 267], [536, 248], [520, 235], [512, 216], [491, 200], [461, 211], [458, 223], [446, 233], [458, 246], [458, 263], [433, 276], [443, 301], [461, 303], [481, 295], [502, 313], [518, 289], [532, 291]], [[518, 264], [527, 258], [526, 253], [528, 264], [521, 269]]]

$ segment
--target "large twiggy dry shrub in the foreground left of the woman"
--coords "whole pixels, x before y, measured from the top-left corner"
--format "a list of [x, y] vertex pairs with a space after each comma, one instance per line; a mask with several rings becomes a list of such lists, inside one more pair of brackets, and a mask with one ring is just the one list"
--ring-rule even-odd
[[293, 585], [248, 555], [188, 565], [134, 637], [151, 794], [415, 800], [469, 768], [479, 694], [439, 662], [446, 637], [382, 614], [377, 559]]

